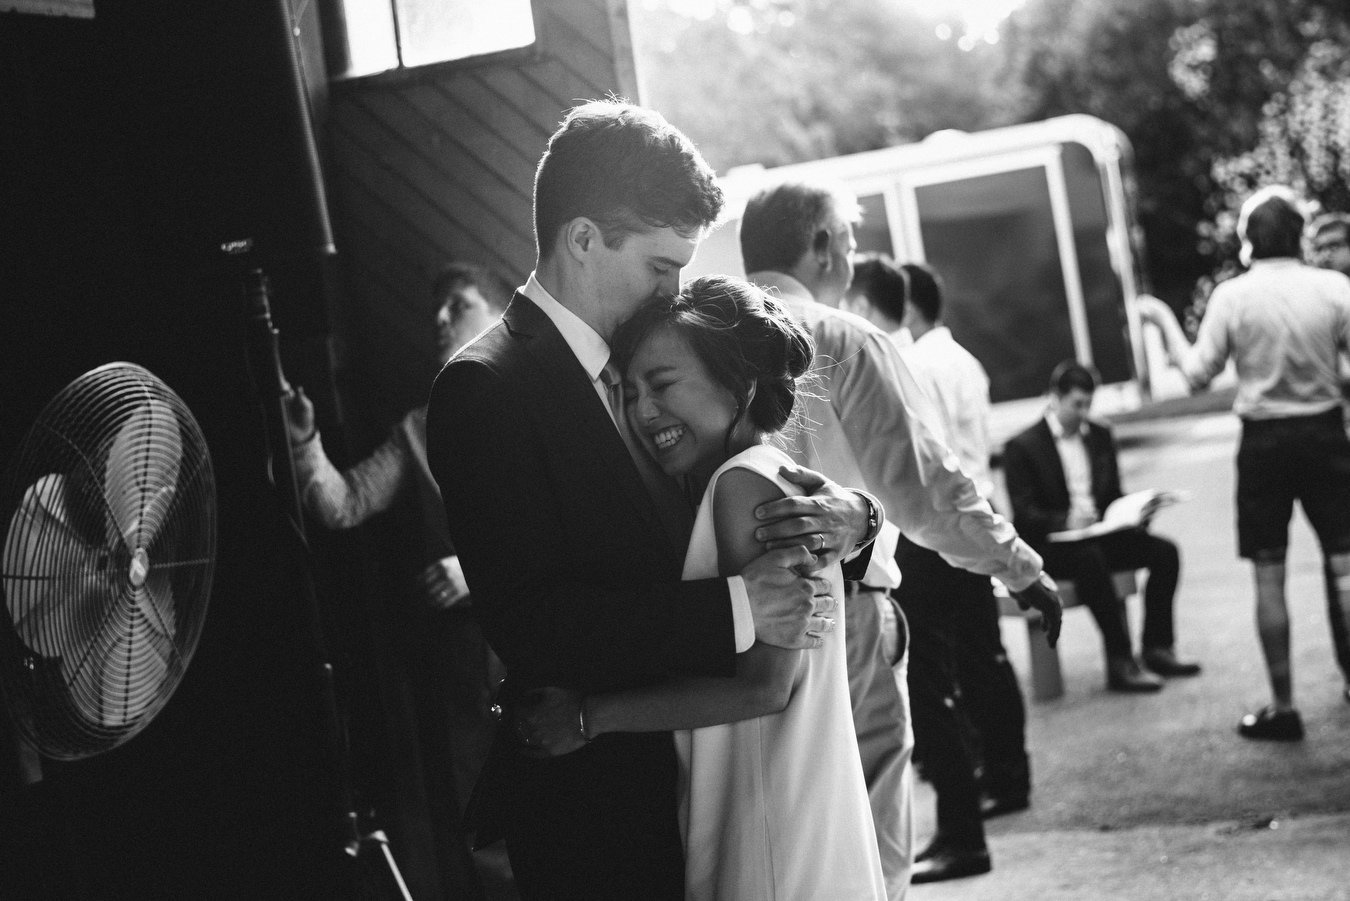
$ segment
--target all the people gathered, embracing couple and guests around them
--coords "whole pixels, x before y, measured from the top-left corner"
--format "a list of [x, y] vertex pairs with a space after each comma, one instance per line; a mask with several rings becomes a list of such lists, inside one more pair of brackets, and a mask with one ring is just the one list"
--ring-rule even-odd
[[[1274, 690], [1239, 731], [1299, 738], [1293, 498], [1323, 543], [1350, 685], [1350, 280], [1297, 262], [1301, 217], [1292, 246], [1272, 238], [1282, 195], [1256, 200], [1251, 273], [1215, 292], [1196, 344], [1165, 307], [1145, 317], [1196, 388], [1237, 362], [1241, 552]], [[790, 182], [745, 208], [745, 280], [682, 285], [722, 205], [660, 115], [580, 105], [539, 165], [525, 285], [463, 263], [437, 278], [429, 404], [339, 471], [290, 400], [309, 511], [347, 528], [405, 497], [425, 527], [408, 590], [471, 613], [452, 627], [462, 652], [423, 674], [420, 738], [454, 796], [444, 836], [456, 854], [505, 839], [522, 898], [898, 901], [988, 871], [984, 820], [1031, 802], [996, 584], [1053, 646], [1052, 577], [1072, 580], [1110, 690], [1200, 671], [1174, 648], [1177, 547], [1148, 516], [1050, 538], [1122, 496], [1089, 369], [1058, 366], [1045, 416], [1007, 443], [1008, 521], [990, 500], [990, 380], [944, 326], [941, 276], [860, 257], [856, 197]], [[1319, 258], [1350, 267], [1346, 232], [1319, 226]], [[1134, 569], [1138, 652], [1112, 578]], [[915, 769], [937, 793], [921, 850]]]

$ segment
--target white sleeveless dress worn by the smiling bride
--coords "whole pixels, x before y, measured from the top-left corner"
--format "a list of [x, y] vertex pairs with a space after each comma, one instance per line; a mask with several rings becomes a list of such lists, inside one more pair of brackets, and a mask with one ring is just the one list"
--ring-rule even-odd
[[[713, 492], [732, 467], [779, 478], [792, 461], [760, 444], [724, 463], [694, 521], [684, 578], [717, 575]], [[886, 901], [863, 765], [853, 735], [840, 604], [825, 647], [806, 651], [782, 713], [675, 732], [688, 901]]]

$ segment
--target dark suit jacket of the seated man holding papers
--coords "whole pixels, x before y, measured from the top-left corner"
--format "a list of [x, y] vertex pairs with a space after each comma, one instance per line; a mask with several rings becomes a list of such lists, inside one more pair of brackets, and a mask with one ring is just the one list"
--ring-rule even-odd
[[[1100, 512], [1120, 497], [1115, 439], [1110, 428], [1089, 421], [1083, 442], [1092, 470], [1092, 500]], [[1040, 550], [1045, 536], [1062, 531], [1069, 517], [1069, 485], [1045, 419], [1008, 440], [1003, 448], [1003, 474], [1013, 503], [1013, 524]]]

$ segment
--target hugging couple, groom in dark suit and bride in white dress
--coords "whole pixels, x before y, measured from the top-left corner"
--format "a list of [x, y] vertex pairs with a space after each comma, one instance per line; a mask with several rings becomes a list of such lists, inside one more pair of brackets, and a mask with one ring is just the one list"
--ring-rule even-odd
[[838, 565], [882, 511], [763, 443], [814, 355], [786, 309], [733, 278], [679, 292], [721, 208], [659, 115], [571, 111], [535, 273], [432, 392], [428, 458], [520, 698], [475, 804], [524, 898], [886, 898]]

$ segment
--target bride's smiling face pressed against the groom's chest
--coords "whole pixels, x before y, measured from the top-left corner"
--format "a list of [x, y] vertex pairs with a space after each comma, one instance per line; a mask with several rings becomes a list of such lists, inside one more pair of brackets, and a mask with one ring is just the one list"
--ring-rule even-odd
[[707, 480], [726, 461], [736, 396], [670, 327], [639, 344], [624, 378], [629, 424], [667, 475]]

